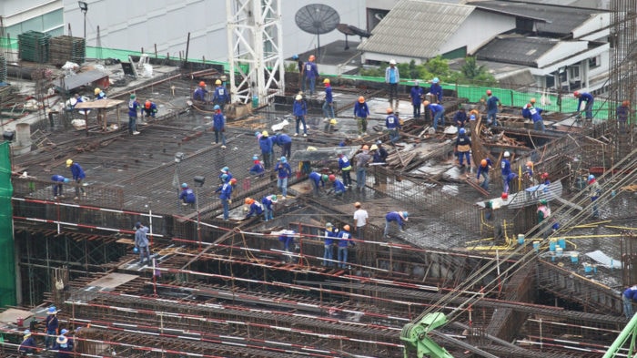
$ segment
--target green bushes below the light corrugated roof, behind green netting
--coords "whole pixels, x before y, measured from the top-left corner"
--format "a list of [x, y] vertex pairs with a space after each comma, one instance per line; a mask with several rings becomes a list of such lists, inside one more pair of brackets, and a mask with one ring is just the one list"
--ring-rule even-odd
[[[498, 83], [485, 66], [478, 66], [475, 57], [469, 56], [466, 61], [467, 63], [461, 67], [460, 71], [451, 70], [447, 60], [441, 56], [431, 58], [424, 65], [416, 65], [416, 61], [412, 59], [409, 63], [400, 63], [397, 66], [400, 72], [400, 79], [430, 81], [433, 77], [439, 77], [443, 84], [480, 82], [480, 85], [494, 86]], [[389, 66], [388, 63], [383, 63], [378, 67], [361, 68], [359, 75], [364, 77], [385, 77], [385, 68], [387, 66]]]

